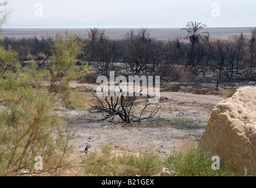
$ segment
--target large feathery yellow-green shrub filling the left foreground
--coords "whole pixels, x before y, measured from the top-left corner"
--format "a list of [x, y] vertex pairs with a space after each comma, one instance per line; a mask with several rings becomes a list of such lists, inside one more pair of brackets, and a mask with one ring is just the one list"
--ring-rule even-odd
[[88, 72], [76, 65], [81, 47], [75, 35], [57, 34], [49, 68], [38, 69], [34, 62], [21, 67], [16, 53], [0, 46], [1, 175], [34, 172], [35, 156], [44, 170], [65, 164], [71, 133], [53, 109], [74, 96], [68, 82]]

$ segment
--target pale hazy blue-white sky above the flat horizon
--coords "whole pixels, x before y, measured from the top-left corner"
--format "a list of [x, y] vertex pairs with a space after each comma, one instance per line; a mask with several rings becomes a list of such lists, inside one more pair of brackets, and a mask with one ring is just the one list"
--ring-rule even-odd
[[3, 28], [256, 26], [256, 0], [9, 0]]

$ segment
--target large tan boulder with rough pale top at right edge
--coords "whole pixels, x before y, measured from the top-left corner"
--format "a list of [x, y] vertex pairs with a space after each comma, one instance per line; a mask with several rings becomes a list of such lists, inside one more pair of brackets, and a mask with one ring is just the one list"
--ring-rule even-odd
[[219, 156], [230, 172], [256, 175], [256, 88], [239, 88], [216, 105], [198, 147]]

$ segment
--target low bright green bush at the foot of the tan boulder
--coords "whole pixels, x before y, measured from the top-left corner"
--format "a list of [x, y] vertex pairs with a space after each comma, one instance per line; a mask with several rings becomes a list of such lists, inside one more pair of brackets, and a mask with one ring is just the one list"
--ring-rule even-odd
[[165, 159], [165, 166], [174, 176], [228, 176], [225, 170], [212, 170], [213, 161], [195, 145], [173, 150]]

